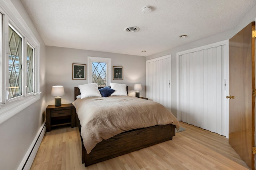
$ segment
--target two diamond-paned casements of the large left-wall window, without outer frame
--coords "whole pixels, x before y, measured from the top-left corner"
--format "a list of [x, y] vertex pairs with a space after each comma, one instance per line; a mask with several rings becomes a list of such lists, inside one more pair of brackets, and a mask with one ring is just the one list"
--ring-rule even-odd
[[[24, 57], [23, 60], [23, 38], [18, 31], [15, 31], [11, 26], [9, 26], [8, 29], [8, 99], [12, 99], [24, 96], [24, 93], [28, 94], [34, 92], [34, 48], [29, 43], [26, 43], [26, 57]], [[24, 65], [26, 67], [24, 71], [22, 69], [22, 61], [26, 63]], [[24, 80], [22, 79], [23, 72], [26, 77]], [[23, 88], [24, 86], [25, 89]], [[25, 90], [24, 92], [23, 89]]]

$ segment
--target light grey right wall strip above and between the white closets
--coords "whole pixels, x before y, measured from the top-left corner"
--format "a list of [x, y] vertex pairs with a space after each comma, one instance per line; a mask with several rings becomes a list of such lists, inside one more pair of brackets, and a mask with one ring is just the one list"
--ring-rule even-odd
[[[185, 45], [180, 45], [178, 47], [174, 47], [172, 49], [168, 49], [166, 51], [162, 51], [160, 53], [156, 53], [154, 55], [149, 55], [146, 57], [146, 60], [149, 59], [153, 59], [156, 57], [160, 57], [160, 56], [164, 56], [164, 55], [168, 55], [171, 54], [172, 59], [171, 59], [171, 94], [172, 94], [172, 113], [176, 116], [177, 115], [177, 87], [176, 87], [176, 53], [180, 52], [180, 51], [185, 51], [188, 49], [192, 49], [195, 47], [200, 47], [203, 45], [208, 45], [211, 43], [215, 43], [215, 42], [220, 42], [223, 40], [228, 40], [230, 38], [232, 38], [232, 36], [234, 36], [236, 33], [238, 33], [240, 30], [242, 30], [245, 26], [247, 26], [250, 22], [254, 21], [254, 18], [256, 17], [256, 6], [254, 6], [252, 8], [252, 10], [250, 10], [250, 12], [248, 12], [244, 18], [241, 20], [241, 22], [238, 24], [238, 26], [236, 26], [236, 28], [234, 28], [233, 30], [229, 30], [227, 32], [222, 32], [220, 34], [216, 34], [214, 36], [210, 36], [195, 42], [191, 42], [191, 43], [187, 43]], [[189, 29], [189, 28], [188, 28]], [[188, 37], [189, 38], [189, 35]]]

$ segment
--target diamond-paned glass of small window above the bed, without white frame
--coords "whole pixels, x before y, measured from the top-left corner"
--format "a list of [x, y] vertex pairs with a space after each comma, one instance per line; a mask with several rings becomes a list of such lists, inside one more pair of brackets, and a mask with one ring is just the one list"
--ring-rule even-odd
[[99, 87], [107, 86], [107, 63], [92, 62], [92, 83]]

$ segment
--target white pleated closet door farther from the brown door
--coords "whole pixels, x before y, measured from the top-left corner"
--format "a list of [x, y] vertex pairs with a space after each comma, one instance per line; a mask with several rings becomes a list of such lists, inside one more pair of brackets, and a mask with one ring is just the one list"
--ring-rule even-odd
[[171, 111], [171, 55], [146, 61], [146, 97]]

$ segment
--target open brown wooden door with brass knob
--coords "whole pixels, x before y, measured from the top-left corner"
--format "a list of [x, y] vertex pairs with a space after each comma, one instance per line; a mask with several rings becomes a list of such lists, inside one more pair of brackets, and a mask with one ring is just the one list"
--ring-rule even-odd
[[255, 30], [254, 22], [229, 40], [229, 143], [254, 169], [255, 97]]

